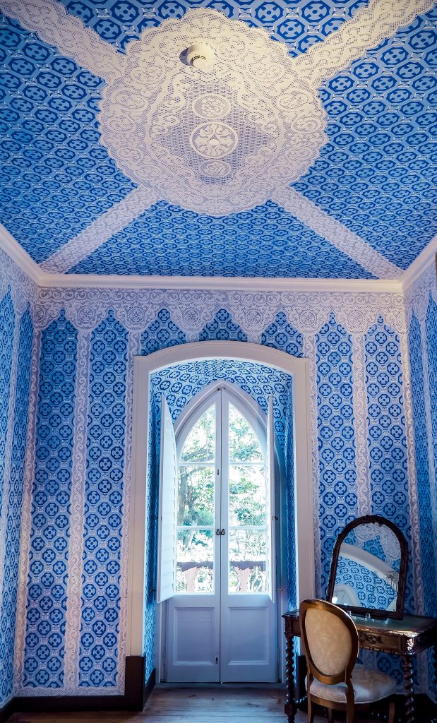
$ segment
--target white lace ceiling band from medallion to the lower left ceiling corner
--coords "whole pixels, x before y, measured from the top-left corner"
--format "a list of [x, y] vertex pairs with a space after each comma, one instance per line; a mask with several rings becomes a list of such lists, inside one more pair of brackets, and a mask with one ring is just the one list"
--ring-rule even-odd
[[96, 221], [90, 223], [74, 239], [51, 254], [41, 263], [41, 269], [49, 273], [66, 273], [105, 241], [111, 239], [111, 236], [122, 231], [157, 200], [156, 193], [149, 188], [134, 189], [122, 201], [96, 218]]

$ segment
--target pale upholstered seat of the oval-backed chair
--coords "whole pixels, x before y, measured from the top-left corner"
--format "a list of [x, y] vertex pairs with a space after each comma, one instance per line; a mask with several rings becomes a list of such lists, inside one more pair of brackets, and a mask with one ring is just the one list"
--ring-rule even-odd
[[[396, 693], [396, 683], [393, 678], [379, 672], [379, 670], [370, 670], [357, 665], [352, 672], [351, 680], [355, 690], [355, 704], [357, 705], [360, 705], [360, 703], [362, 705], [376, 703], [382, 701], [383, 698], [394, 696], [394, 693]], [[346, 704], [346, 683], [325, 685], [320, 680], [314, 679], [313, 683], [311, 683], [310, 692], [317, 698]]]

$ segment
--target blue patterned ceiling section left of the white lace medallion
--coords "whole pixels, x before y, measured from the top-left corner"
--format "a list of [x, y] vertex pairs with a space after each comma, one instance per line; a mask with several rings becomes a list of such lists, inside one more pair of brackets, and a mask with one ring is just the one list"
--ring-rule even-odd
[[0, 218], [36, 262], [135, 188], [96, 122], [103, 81], [0, 14]]

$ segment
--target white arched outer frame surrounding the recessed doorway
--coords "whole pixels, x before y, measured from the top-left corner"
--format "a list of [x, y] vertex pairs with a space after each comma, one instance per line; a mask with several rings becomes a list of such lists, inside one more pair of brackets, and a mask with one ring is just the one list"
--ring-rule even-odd
[[293, 377], [294, 523], [297, 546], [297, 598], [315, 596], [313, 480], [310, 438], [310, 366], [284, 351], [240, 341], [200, 341], [135, 356], [132, 491], [130, 500], [129, 570], [127, 582], [127, 655], [143, 654], [144, 565], [148, 470], [150, 375], [159, 369], [200, 359], [255, 361]]

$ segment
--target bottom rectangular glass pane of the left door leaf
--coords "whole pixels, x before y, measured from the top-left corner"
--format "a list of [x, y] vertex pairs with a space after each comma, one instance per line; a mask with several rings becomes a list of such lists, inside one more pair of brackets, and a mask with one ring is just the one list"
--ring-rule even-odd
[[213, 559], [213, 530], [180, 530], [177, 533], [176, 591], [213, 592]]

